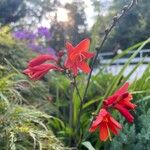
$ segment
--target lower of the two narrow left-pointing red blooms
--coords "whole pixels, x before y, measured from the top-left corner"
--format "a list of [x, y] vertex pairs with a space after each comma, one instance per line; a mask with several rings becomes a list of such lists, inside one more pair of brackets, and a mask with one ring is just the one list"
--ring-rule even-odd
[[25, 69], [23, 73], [28, 75], [32, 80], [39, 80], [50, 70], [63, 71], [62, 68], [55, 66], [53, 64], [41, 64], [38, 66], [29, 67]]

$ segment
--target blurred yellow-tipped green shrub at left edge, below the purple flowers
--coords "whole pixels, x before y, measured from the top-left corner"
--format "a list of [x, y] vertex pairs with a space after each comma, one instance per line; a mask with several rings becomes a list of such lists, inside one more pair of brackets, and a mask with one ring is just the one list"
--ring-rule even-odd
[[7, 59], [16, 68], [24, 69], [32, 52], [24, 44], [15, 41], [10, 31], [9, 26], [0, 28], [0, 64], [5, 65]]

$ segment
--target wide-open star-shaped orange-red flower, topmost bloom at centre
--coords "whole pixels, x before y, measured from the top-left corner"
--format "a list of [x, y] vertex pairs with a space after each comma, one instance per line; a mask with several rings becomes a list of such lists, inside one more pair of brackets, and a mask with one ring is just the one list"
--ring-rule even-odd
[[65, 62], [65, 67], [72, 70], [74, 76], [78, 74], [78, 69], [81, 69], [85, 73], [89, 73], [91, 71], [90, 67], [86, 63], [86, 60], [92, 58], [94, 53], [88, 52], [89, 46], [89, 39], [82, 40], [75, 47], [69, 42], [66, 43], [68, 57]]

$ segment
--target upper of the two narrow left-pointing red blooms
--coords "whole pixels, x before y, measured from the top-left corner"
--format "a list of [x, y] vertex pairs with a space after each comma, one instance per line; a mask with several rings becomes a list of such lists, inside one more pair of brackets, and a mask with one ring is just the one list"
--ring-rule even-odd
[[54, 57], [53, 55], [48, 55], [48, 54], [43, 54], [43, 55], [39, 55], [36, 58], [32, 59], [28, 66], [29, 67], [34, 67], [34, 66], [38, 66], [41, 65], [42, 63], [46, 62], [46, 61], [57, 61], [57, 58]]

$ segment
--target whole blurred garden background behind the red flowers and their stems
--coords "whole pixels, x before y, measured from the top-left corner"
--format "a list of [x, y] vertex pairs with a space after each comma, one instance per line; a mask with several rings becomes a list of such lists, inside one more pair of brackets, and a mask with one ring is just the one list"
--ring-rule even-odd
[[[34, 83], [22, 74], [22, 70], [38, 54], [58, 56], [59, 51], [65, 50], [66, 41], [76, 45], [84, 38], [90, 38], [90, 51], [95, 52], [112, 18], [130, 2], [0, 0], [0, 150], [6, 147], [11, 147], [11, 150], [33, 150], [33, 143], [34, 149], [42, 145], [46, 150], [55, 150], [56, 147], [64, 150], [64, 145], [71, 146], [73, 142], [70, 139], [74, 138], [75, 128], [70, 128], [68, 115], [68, 95], [72, 94], [70, 80], [52, 72]], [[96, 150], [150, 149], [150, 44], [130, 59], [141, 42], [150, 37], [149, 16], [150, 0], [138, 0], [137, 5], [111, 32], [99, 55], [85, 100], [85, 113], [81, 117], [81, 136], [87, 132], [93, 110], [96, 110], [105, 92], [109, 94], [112, 83], [115, 83], [115, 86], [112, 85], [112, 91], [115, 91], [122, 83], [132, 81], [130, 91], [138, 108], [134, 112], [135, 123], [132, 125], [116, 115], [124, 124], [124, 129], [112, 142], [99, 142], [98, 134], [88, 136], [86, 140]], [[124, 53], [129, 47], [130, 51]], [[122, 56], [109, 63], [121, 53]], [[78, 77], [81, 93], [86, 77]], [[76, 91], [73, 100], [76, 126], [80, 104]], [[52, 117], [51, 120], [47, 114], [57, 119]], [[81, 138], [79, 136], [76, 138]], [[86, 149], [83, 145], [81, 147]]]

